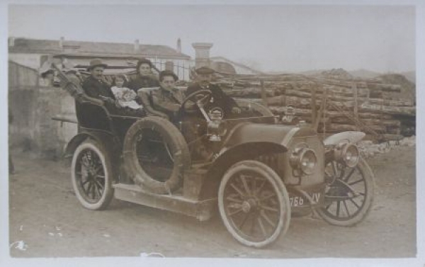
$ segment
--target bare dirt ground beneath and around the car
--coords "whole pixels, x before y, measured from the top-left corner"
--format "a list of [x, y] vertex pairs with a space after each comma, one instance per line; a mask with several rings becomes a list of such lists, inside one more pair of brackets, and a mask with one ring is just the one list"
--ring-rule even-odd
[[[266, 249], [242, 246], [220, 216], [207, 222], [113, 200], [104, 211], [82, 208], [62, 161], [13, 153], [9, 178], [12, 257], [140, 256], [227, 258], [403, 258], [416, 255], [415, 147], [368, 159], [375, 201], [356, 227], [295, 217], [288, 233]], [[18, 246], [21, 244], [21, 246]], [[21, 249], [16, 248], [21, 247]]]

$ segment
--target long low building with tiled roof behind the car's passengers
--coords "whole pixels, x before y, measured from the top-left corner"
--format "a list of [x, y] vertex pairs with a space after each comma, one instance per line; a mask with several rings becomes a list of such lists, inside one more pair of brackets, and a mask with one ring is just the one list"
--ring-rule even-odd
[[[9, 38], [9, 60], [33, 69], [40, 69], [42, 63], [51, 56], [62, 57], [68, 64], [84, 66], [95, 57], [113, 66], [134, 67], [137, 58], [150, 59], [157, 69], [165, 69], [171, 64], [180, 79], [188, 79], [191, 57], [181, 52], [181, 41], [176, 49], [166, 45], [145, 45], [139, 40], [134, 43], [87, 42], [65, 40], [39, 40], [29, 38]], [[168, 63], [166, 63], [168, 62]]]

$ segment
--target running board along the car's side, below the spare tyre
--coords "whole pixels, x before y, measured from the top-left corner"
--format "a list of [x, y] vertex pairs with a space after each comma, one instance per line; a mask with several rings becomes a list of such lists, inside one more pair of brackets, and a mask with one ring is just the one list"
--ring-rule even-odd
[[200, 221], [209, 220], [217, 208], [217, 198], [209, 200], [189, 200], [182, 195], [159, 195], [142, 190], [140, 186], [117, 183], [115, 198], [161, 210], [178, 212]]

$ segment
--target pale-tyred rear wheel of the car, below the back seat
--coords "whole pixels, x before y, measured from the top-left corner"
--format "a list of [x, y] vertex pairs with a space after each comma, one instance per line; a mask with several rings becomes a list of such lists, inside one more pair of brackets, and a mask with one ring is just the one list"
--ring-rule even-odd
[[81, 205], [103, 210], [113, 198], [113, 166], [106, 149], [94, 140], [82, 142], [72, 157], [72, 185]]

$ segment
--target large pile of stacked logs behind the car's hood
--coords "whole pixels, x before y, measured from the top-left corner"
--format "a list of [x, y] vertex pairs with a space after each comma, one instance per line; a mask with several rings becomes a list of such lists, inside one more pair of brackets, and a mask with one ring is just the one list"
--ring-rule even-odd
[[313, 123], [312, 114], [320, 113], [326, 98], [319, 132], [363, 130], [394, 139], [400, 134], [400, 115], [414, 118], [416, 114], [413, 101], [393, 97], [401, 93], [401, 86], [382, 84], [375, 79], [219, 73], [215, 75], [215, 83], [229, 96], [262, 103], [276, 115], [285, 115], [287, 107], [292, 106], [296, 117], [307, 123]]

